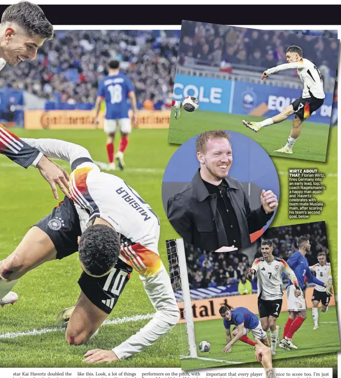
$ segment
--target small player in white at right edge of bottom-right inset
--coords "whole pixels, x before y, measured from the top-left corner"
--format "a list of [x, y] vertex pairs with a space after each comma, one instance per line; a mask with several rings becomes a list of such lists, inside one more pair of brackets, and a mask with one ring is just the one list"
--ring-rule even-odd
[[[309, 267], [312, 272], [316, 273], [316, 277], [322, 282], [328, 282], [330, 275], [330, 263], [327, 262], [327, 256], [324, 252], [319, 252], [317, 255], [318, 263]], [[327, 288], [324, 286], [316, 285], [311, 298], [313, 303], [313, 320], [314, 328], [318, 329], [318, 305], [321, 302], [321, 311], [326, 312], [328, 310], [330, 295], [327, 294]]]

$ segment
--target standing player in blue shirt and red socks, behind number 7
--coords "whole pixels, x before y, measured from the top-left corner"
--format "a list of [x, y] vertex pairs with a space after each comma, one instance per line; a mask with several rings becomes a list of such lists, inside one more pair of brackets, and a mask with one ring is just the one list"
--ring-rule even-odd
[[[287, 264], [294, 271], [298, 280], [298, 285], [303, 293], [304, 282], [307, 277], [308, 282], [314, 282], [314, 284], [327, 288], [327, 294], [331, 290], [331, 282], [325, 283], [314, 277], [309, 269], [308, 260], [305, 257], [306, 253], [310, 251], [310, 241], [307, 237], [301, 236], [297, 240], [298, 251], [294, 252], [288, 258]], [[288, 311], [289, 318], [284, 327], [283, 339], [279, 343], [281, 349], [298, 349], [292, 342], [292, 336], [302, 326], [307, 317], [307, 305], [306, 300], [302, 295], [295, 296], [294, 284], [289, 281], [287, 286], [287, 299], [288, 299]]]

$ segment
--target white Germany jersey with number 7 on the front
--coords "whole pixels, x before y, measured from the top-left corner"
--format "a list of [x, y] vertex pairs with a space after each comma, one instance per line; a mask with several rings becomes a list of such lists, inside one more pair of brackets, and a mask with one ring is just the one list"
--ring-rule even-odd
[[257, 293], [258, 298], [264, 300], [282, 299], [282, 273], [297, 286], [297, 279], [289, 265], [278, 257], [274, 256], [272, 262], [265, 261], [264, 257], [256, 258], [252, 268], [257, 274]]

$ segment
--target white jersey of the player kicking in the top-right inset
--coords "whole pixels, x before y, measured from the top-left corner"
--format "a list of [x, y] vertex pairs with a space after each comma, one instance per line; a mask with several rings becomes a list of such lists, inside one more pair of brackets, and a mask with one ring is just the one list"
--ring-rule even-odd
[[304, 99], [308, 99], [312, 96], [317, 99], [324, 99], [326, 97], [323, 90], [323, 80], [318, 68], [314, 63], [310, 62], [308, 59], [302, 58], [296, 63], [285, 63], [279, 66], [269, 68], [265, 72], [268, 75], [272, 75], [278, 71], [283, 71], [285, 69], [297, 69], [297, 73], [300, 81], [303, 83], [303, 94]]

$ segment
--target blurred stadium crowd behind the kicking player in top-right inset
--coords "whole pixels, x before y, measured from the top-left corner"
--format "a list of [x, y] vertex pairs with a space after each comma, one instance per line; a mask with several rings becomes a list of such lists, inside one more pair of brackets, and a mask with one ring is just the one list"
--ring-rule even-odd
[[[316, 37], [315, 35], [320, 35]], [[337, 68], [335, 31], [271, 31], [183, 21], [178, 60], [181, 65], [220, 66], [222, 62], [270, 68], [286, 63], [290, 45], [303, 49], [304, 57], [318, 67]], [[335, 40], [326, 39], [334, 38]]]

